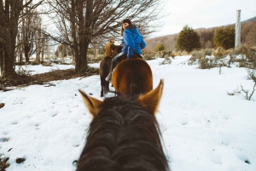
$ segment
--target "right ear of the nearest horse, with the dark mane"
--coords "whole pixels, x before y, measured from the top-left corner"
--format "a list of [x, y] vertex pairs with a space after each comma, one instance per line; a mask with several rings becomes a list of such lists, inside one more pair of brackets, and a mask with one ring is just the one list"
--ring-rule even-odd
[[148, 94], [139, 96], [138, 102], [143, 105], [143, 108], [149, 113], [156, 113], [162, 96], [163, 87], [164, 80], [161, 79], [157, 88], [151, 90]]

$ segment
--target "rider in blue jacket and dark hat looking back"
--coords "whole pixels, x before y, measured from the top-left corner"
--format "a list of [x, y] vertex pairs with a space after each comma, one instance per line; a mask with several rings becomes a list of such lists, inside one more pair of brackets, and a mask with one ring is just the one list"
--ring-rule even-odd
[[133, 56], [142, 57], [142, 49], [146, 47], [143, 36], [139, 33], [137, 26], [131, 24], [131, 20], [125, 19], [121, 22], [122, 52], [116, 55], [111, 61], [111, 70], [106, 81], [111, 82], [112, 71], [121, 60], [132, 59]]

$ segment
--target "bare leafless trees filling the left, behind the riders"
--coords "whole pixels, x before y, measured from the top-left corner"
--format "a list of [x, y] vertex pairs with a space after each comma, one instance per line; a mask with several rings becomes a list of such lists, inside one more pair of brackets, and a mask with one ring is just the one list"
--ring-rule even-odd
[[[28, 61], [35, 53], [40, 62], [50, 43], [67, 45], [75, 72], [83, 74], [89, 48], [119, 37], [121, 20], [130, 18], [147, 37], [162, 8], [163, 0], [0, 0], [0, 81], [22, 81], [15, 72], [17, 57]], [[55, 26], [47, 26], [44, 15]]]

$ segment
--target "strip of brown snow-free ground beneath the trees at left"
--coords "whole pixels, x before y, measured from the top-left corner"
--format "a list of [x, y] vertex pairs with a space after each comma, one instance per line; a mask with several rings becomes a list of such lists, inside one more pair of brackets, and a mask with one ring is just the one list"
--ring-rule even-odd
[[44, 85], [46, 83], [49, 84], [51, 81], [57, 81], [57, 80], [68, 80], [71, 78], [75, 77], [89, 77], [92, 75], [98, 75], [99, 74], [99, 69], [94, 68], [94, 67], [89, 67], [87, 71], [84, 71], [83, 74], [79, 75], [75, 73], [74, 69], [68, 69], [68, 70], [54, 70], [42, 74], [36, 74], [32, 76], [19, 76], [15, 77], [15, 79], [9, 79], [9, 80], [0, 80], [0, 90], [2, 91], [9, 91], [11, 86], [21, 86], [21, 87], [26, 87], [28, 85], [33, 85], [33, 84], [40, 84]]

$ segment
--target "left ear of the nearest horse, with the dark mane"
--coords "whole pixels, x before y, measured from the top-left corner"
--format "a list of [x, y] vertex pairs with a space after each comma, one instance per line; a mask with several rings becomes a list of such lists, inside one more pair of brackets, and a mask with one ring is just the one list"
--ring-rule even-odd
[[96, 117], [96, 115], [102, 111], [102, 104], [103, 102], [101, 100], [97, 100], [93, 97], [90, 97], [88, 94], [85, 94], [83, 90], [79, 89], [80, 94], [82, 95], [82, 99], [84, 100], [84, 105], [87, 107], [87, 109], [90, 111], [90, 114], [93, 117]]

